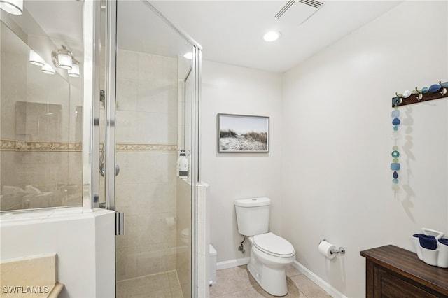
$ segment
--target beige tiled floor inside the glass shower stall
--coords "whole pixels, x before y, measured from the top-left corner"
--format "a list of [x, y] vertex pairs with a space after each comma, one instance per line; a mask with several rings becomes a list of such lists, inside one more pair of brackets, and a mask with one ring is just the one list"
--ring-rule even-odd
[[117, 298], [183, 298], [176, 271], [117, 281]]

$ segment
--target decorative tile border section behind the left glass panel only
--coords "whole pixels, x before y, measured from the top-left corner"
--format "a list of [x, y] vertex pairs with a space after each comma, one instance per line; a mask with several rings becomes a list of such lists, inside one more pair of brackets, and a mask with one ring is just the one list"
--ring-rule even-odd
[[80, 142], [14, 141], [0, 139], [2, 151], [80, 152]]

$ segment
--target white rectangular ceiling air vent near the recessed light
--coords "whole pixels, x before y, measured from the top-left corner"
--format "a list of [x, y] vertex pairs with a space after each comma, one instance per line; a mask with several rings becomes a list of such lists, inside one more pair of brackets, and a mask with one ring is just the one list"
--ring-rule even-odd
[[277, 20], [290, 24], [303, 24], [323, 6], [315, 0], [289, 0], [279, 8], [274, 16]]

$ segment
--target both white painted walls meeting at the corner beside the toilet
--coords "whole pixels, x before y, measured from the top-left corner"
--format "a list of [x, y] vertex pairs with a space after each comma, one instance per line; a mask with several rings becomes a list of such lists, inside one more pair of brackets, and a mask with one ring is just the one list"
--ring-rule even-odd
[[[447, 1], [406, 1], [283, 75], [204, 62], [201, 179], [218, 262], [247, 256], [233, 206], [243, 197], [271, 197], [272, 231], [348, 297], [365, 295], [360, 250], [414, 250], [421, 227], [448, 232], [446, 99], [400, 108], [397, 193], [390, 170], [391, 98], [448, 80], [447, 12]], [[218, 155], [217, 113], [269, 115], [269, 155]], [[323, 238], [346, 255], [319, 255]]]

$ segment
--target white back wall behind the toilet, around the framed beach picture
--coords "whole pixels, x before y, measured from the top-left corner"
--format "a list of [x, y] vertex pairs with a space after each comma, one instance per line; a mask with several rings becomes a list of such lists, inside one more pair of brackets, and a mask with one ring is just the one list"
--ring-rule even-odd
[[[218, 113], [270, 118], [269, 153], [217, 153]], [[204, 61], [201, 98], [200, 179], [209, 183], [211, 243], [218, 262], [247, 257], [237, 251], [235, 199], [267, 196], [279, 206], [281, 172], [281, 75]]]

